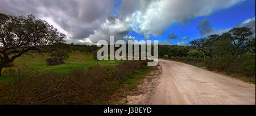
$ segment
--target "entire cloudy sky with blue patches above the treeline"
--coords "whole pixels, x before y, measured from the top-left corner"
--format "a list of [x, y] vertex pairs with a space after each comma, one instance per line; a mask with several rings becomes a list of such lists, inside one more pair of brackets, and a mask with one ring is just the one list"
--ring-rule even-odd
[[0, 12], [47, 20], [75, 44], [114, 35], [185, 45], [233, 27], [250, 27], [255, 35], [255, 0], [0, 0]]

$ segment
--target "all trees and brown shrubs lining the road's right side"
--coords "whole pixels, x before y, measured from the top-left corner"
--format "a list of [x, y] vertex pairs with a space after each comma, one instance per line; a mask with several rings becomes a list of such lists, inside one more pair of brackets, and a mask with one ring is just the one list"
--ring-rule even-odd
[[159, 45], [159, 57], [188, 63], [255, 84], [255, 37], [250, 28], [233, 28], [188, 46]]

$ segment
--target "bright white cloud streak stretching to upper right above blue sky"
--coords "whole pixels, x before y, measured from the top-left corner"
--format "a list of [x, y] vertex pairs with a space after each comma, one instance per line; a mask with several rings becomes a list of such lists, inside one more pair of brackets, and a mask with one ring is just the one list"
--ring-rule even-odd
[[[206, 16], [214, 11], [229, 8], [244, 0], [159, 0], [139, 3], [130, 17], [137, 33], [159, 36], [172, 23], [185, 23], [197, 16]], [[147, 7], [144, 7], [146, 6]]]

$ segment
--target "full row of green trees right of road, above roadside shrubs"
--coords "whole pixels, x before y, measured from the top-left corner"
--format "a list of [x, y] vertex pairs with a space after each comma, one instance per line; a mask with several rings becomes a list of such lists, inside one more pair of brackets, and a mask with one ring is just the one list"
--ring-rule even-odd
[[250, 28], [230, 29], [222, 35], [209, 35], [189, 42], [189, 46], [159, 45], [159, 57], [203, 58], [225, 55], [253, 54], [255, 56], [255, 37]]

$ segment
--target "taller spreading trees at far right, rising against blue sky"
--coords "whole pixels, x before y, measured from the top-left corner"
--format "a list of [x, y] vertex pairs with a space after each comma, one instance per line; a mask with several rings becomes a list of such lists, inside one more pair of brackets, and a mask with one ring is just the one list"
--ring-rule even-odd
[[209, 35], [189, 42], [193, 49], [203, 51], [210, 59], [213, 55], [241, 55], [247, 51], [255, 54], [255, 37], [250, 28], [230, 29], [222, 35]]

